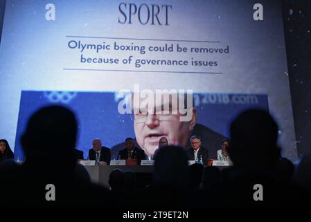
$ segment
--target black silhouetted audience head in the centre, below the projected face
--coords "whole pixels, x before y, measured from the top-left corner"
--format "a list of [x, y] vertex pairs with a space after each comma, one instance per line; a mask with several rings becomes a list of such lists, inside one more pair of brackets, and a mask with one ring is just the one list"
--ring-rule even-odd
[[180, 146], [164, 146], [154, 160], [154, 187], [188, 188], [188, 157]]

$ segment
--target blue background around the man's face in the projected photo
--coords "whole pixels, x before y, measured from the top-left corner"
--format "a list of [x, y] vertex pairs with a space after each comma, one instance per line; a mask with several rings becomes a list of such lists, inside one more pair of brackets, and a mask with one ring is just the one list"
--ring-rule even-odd
[[[112, 158], [122, 147], [117, 144], [127, 137], [135, 137], [134, 115], [120, 114], [116, 107], [121, 99], [112, 92], [21, 92], [21, 104], [17, 125], [17, 138], [25, 130], [26, 122], [33, 112], [46, 105], [65, 105], [75, 110], [79, 120], [77, 148], [84, 151], [87, 158], [92, 139], [103, 139], [103, 145], [112, 148]], [[234, 117], [247, 108], [268, 110], [267, 95], [251, 94], [194, 94], [194, 105], [198, 113], [197, 123], [229, 137], [228, 126]], [[209, 138], [202, 138], [203, 140]], [[15, 142], [15, 155], [24, 159], [21, 143]], [[221, 143], [217, 149], [221, 148]], [[210, 157], [217, 157], [210, 151]]]

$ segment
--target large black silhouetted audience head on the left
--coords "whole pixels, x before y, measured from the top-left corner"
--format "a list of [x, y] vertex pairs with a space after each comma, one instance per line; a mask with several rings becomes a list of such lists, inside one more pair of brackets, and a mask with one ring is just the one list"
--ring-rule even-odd
[[75, 166], [75, 114], [62, 106], [47, 106], [35, 112], [21, 137], [25, 162], [57, 162], [57, 166]]

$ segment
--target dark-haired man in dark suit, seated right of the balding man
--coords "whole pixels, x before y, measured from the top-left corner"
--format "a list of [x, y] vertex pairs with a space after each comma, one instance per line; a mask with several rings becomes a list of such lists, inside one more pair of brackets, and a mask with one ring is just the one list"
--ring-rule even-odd
[[121, 160], [136, 159], [138, 164], [141, 164], [141, 160], [145, 160], [145, 152], [134, 146], [133, 138], [126, 138], [125, 148], [119, 151], [118, 157], [121, 158]]

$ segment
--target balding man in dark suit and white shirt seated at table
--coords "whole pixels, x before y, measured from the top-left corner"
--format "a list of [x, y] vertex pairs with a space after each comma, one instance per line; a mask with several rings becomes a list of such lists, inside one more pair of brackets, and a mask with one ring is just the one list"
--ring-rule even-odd
[[89, 160], [99, 160], [100, 165], [109, 165], [110, 164], [110, 149], [102, 146], [100, 139], [94, 139], [93, 148], [89, 149]]

